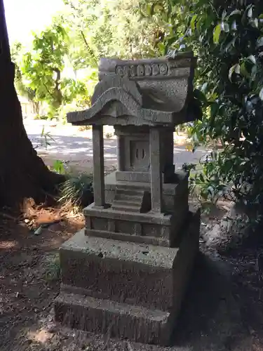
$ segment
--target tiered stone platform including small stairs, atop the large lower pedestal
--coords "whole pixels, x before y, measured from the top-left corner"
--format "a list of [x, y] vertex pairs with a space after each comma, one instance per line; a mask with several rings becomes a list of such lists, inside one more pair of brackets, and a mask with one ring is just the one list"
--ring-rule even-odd
[[[86, 234], [120, 241], [177, 247], [187, 223], [188, 176], [177, 172], [176, 183], [163, 184], [163, 213], [151, 211], [150, 183], [116, 180], [116, 172], [104, 178], [107, 206], [84, 208]], [[145, 211], [144, 211], [145, 209]]]

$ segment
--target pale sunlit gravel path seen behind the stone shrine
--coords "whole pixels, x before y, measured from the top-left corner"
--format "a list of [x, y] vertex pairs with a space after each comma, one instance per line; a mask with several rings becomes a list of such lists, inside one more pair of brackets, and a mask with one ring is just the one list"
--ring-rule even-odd
[[[52, 126], [49, 121], [34, 121], [32, 119], [24, 121], [25, 128], [29, 139], [32, 140], [34, 147], [37, 147], [38, 153], [47, 163], [55, 159], [67, 161], [71, 166], [78, 168], [80, 171], [92, 168], [93, 145], [91, 131], [78, 131], [74, 126]], [[44, 126], [45, 133], [50, 136], [47, 141], [50, 145], [44, 146], [45, 138], [41, 137]], [[106, 133], [113, 134], [111, 127]], [[51, 138], [52, 139], [51, 139]], [[198, 149], [196, 152], [189, 152], [184, 145], [175, 145], [174, 163], [175, 167], [181, 168], [184, 163], [198, 163], [205, 157], [207, 151]], [[104, 164], [106, 168], [116, 166], [116, 139], [104, 139]], [[50, 164], [50, 165], [51, 165]]]

